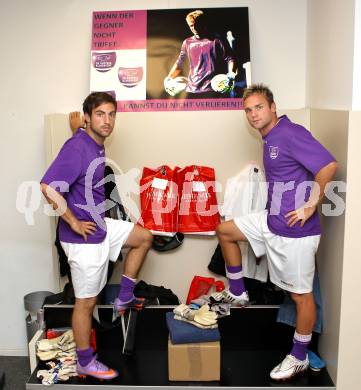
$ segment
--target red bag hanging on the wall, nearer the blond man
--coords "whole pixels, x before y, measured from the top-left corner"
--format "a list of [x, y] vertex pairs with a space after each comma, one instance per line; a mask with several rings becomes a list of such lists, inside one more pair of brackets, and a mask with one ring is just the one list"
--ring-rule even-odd
[[215, 234], [220, 223], [215, 187], [213, 168], [191, 165], [179, 170], [178, 232]]

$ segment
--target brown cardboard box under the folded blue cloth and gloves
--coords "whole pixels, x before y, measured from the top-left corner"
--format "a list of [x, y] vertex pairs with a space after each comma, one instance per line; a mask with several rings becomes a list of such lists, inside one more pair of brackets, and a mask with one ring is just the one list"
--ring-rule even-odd
[[168, 340], [168, 377], [170, 381], [219, 381], [221, 346], [208, 343], [172, 344]]

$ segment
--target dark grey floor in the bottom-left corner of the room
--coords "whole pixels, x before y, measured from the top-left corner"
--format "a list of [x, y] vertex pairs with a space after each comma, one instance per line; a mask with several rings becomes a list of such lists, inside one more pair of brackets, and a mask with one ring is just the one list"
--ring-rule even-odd
[[0, 356], [0, 372], [5, 373], [5, 386], [0, 390], [25, 390], [30, 376], [27, 356]]

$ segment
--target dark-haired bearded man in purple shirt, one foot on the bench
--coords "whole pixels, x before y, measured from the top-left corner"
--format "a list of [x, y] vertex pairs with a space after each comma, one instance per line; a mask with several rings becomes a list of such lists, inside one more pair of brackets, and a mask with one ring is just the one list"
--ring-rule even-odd
[[90, 347], [96, 298], [106, 284], [109, 260], [129, 248], [115, 310], [141, 307], [133, 295], [137, 274], [152, 244], [152, 234], [131, 222], [104, 218], [104, 141], [112, 133], [117, 102], [104, 92], [83, 103], [86, 128], [65, 142], [41, 179], [41, 190], [60, 215], [59, 239], [68, 257], [75, 292], [72, 328], [77, 371], [82, 376], [112, 379], [118, 373], [99, 362]]

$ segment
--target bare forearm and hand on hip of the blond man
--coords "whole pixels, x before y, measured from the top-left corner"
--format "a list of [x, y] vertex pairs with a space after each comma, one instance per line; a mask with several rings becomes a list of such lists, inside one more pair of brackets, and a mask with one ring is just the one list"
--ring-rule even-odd
[[310, 198], [307, 203], [294, 211], [286, 214], [288, 226], [294, 226], [298, 221], [301, 221], [301, 227], [315, 213], [318, 204], [325, 195], [325, 187], [334, 177], [337, 170], [337, 162], [333, 161], [319, 170], [315, 176], [315, 184], [312, 188]]

